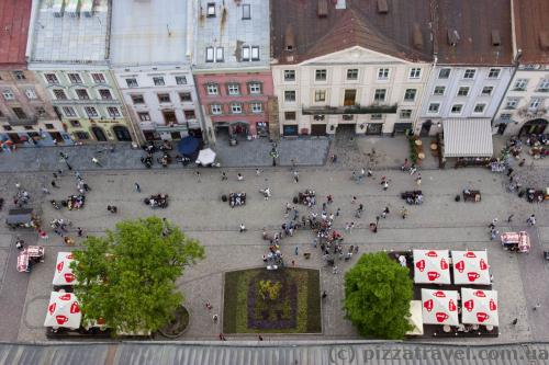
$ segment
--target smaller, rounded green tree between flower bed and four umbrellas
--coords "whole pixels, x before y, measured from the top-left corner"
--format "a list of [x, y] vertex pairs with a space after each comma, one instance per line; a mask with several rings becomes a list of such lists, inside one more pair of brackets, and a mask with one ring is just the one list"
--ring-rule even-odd
[[412, 329], [408, 323], [412, 297], [408, 269], [384, 252], [363, 254], [345, 274], [346, 318], [360, 335], [403, 339]]

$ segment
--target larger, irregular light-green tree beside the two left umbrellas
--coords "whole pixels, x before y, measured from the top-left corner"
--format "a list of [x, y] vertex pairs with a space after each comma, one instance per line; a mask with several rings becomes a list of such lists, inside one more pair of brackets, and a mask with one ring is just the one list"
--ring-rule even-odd
[[121, 221], [83, 246], [71, 264], [83, 322], [101, 318], [114, 332], [164, 327], [183, 303], [176, 280], [204, 258], [197, 240], [158, 217]]

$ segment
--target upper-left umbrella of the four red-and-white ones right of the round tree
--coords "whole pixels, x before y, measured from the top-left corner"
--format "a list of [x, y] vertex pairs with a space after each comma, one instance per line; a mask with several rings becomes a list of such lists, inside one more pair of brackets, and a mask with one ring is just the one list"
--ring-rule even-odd
[[414, 282], [450, 284], [448, 250], [414, 250]]

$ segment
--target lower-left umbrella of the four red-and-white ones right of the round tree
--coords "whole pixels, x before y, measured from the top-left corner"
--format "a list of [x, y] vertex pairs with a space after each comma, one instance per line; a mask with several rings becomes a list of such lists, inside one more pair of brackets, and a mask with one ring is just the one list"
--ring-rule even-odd
[[458, 292], [422, 289], [423, 322], [458, 326]]

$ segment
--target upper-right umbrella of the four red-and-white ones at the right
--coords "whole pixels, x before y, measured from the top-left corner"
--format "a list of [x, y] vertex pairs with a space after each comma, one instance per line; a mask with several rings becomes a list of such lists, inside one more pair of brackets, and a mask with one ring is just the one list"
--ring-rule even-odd
[[451, 251], [453, 284], [490, 285], [486, 251]]

